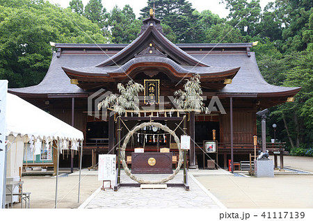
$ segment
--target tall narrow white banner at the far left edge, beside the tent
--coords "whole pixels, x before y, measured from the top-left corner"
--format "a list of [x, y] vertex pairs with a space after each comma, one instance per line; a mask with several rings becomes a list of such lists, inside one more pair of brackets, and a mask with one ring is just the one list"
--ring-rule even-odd
[[6, 143], [6, 93], [8, 92], [8, 81], [0, 80], [0, 208], [2, 208], [4, 184], [4, 158]]

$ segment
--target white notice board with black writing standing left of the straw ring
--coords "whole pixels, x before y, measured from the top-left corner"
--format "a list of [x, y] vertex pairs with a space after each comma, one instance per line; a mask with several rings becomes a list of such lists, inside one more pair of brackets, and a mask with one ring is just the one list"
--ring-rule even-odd
[[116, 176], [116, 155], [99, 154], [98, 180], [115, 180]]

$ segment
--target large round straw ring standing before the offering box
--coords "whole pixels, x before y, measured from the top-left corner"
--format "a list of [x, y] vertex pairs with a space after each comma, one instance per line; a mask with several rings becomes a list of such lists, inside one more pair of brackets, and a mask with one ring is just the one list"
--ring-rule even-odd
[[[166, 131], [168, 133], [170, 133], [170, 135], [174, 138], [175, 142], [177, 143], [178, 149], [179, 149], [179, 161], [177, 164], [177, 167], [174, 171], [173, 174], [170, 174], [170, 176], [166, 179], [162, 179], [160, 181], [145, 181], [141, 178], [138, 178], [136, 176], [134, 176], [134, 174], [131, 174], [131, 172], [129, 171], [129, 168], [127, 167], [127, 163], [125, 161], [125, 149], [127, 147], [127, 143], [129, 142], [129, 139], [131, 138], [131, 136], [138, 130], [143, 129], [143, 127], [145, 126], [157, 126], [159, 129], [162, 129], [163, 131]], [[156, 122], [145, 122], [143, 124], [140, 124], [138, 126], [135, 126], [134, 129], [132, 129], [131, 131], [129, 131], [129, 133], [127, 134], [124, 143], [122, 145], [121, 148], [121, 152], [120, 152], [120, 158], [122, 159], [122, 166], [124, 167], [125, 173], [134, 181], [141, 183], [141, 184], [157, 184], [157, 183], [166, 183], [167, 181], [170, 181], [171, 179], [173, 179], [176, 174], [179, 172], [180, 167], [182, 166], [182, 158], [183, 158], [183, 152], [180, 149], [180, 141], [179, 138], [177, 137], [177, 135], [175, 134], [175, 131], [172, 131], [171, 129], [168, 128], [168, 126], [164, 126], [163, 124], [160, 123], [156, 123]]]

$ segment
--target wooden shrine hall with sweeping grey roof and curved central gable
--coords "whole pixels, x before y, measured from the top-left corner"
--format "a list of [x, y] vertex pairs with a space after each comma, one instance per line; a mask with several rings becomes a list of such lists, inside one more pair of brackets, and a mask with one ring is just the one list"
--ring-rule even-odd
[[[191, 136], [189, 168], [209, 167], [210, 158], [227, 168], [231, 150], [235, 162], [247, 161], [254, 152], [257, 111], [282, 104], [300, 90], [266, 83], [250, 51], [252, 43], [173, 44], [155, 17], [143, 20], [141, 33], [130, 44], [56, 43], [55, 47], [41, 83], [9, 92], [83, 131], [84, 167], [96, 165], [97, 154], [116, 154], [117, 115], [99, 112], [97, 104], [111, 93], [118, 94], [118, 83], [134, 80], [145, 87], [140, 113], [129, 111], [120, 117], [120, 136], [152, 120], [176, 129], [179, 137], [186, 132]], [[204, 103], [211, 104], [211, 113], [184, 113], [175, 107], [174, 92], [195, 74], [200, 75]], [[186, 124], [180, 124], [183, 119]], [[204, 154], [206, 141], [216, 141], [217, 148]], [[129, 141], [127, 156], [137, 147], [145, 152], [166, 147], [174, 156], [178, 153], [171, 136], [153, 126]], [[70, 167], [71, 162], [77, 167], [78, 156], [67, 158], [61, 158], [61, 166]]]

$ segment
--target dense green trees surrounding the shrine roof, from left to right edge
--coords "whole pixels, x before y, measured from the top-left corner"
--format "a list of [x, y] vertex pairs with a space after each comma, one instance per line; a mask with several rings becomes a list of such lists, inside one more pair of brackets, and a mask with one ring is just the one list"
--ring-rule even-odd
[[129, 5], [107, 12], [101, 0], [86, 6], [72, 0], [67, 9], [44, 0], [0, 0], [0, 79], [8, 79], [10, 88], [39, 83], [51, 61], [49, 42], [128, 44], [155, 3], [155, 17], [174, 43], [258, 41], [252, 51], [264, 79], [302, 87], [294, 102], [270, 108], [268, 135], [273, 136], [275, 123], [276, 138], [293, 154], [296, 147], [312, 148], [312, 0], [275, 0], [265, 8], [259, 0], [220, 1], [230, 10], [227, 19], [210, 8], [200, 13], [187, 0], [147, 0], [140, 18]]

